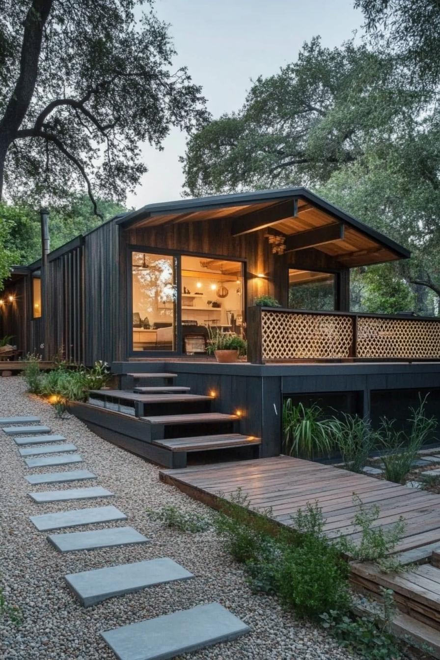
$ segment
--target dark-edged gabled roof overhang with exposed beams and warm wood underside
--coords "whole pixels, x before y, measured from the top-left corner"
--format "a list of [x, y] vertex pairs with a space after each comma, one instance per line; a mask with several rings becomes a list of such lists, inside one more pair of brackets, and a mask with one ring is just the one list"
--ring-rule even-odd
[[149, 204], [116, 224], [133, 230], [214, 220], [232, 220], [232, 238], [265, 229], [282, 237], [286, 251], [317, 249], [342, 268], [410, 257], [388, 236], [303, 187]]

